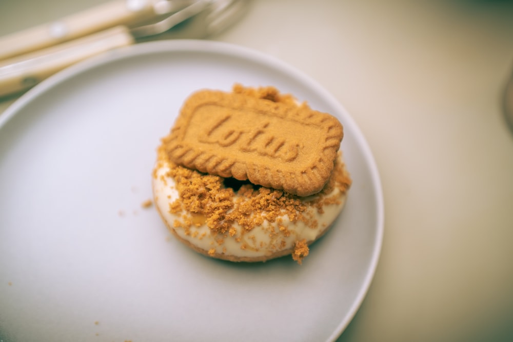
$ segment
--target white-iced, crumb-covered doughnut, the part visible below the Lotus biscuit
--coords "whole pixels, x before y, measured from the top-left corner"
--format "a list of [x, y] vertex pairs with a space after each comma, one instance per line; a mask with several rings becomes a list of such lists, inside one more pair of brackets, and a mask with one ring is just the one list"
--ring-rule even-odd
[[307, 197], [177, 166], [163, 149], [153, 173], [155, 206], [169, 231], [202, 254], [231, 261], [292, 254], [301, 264], [341, 212], [350, 183], [341, 158], [324, 189]]

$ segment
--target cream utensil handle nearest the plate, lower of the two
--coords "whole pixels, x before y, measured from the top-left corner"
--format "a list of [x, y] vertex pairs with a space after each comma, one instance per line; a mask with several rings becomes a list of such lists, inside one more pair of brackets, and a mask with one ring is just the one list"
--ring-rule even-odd
[[128, 28], [117, 26], [0, 64], [0, 96], [27, 90], [85, 58], [134, 43]]

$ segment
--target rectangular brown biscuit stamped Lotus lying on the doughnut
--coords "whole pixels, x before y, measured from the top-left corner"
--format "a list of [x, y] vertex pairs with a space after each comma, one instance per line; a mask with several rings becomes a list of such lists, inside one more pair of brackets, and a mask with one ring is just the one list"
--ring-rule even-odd
[[328, 181], [342, 138], [330, 114], [273, 87], [235, 85], [192, 94], [163, 145], [177, 165], [308, 196]]

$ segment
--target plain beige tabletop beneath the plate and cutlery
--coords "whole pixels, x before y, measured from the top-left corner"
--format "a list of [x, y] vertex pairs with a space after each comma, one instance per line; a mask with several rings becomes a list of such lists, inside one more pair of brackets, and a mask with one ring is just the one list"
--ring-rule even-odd
[[[2, 1], [0, 35], [101, 2]], [[260, 0], [212, 39], [311, 76], [376, 158], [382, 254], [339, 340], [513, 340], [513, 3]]]

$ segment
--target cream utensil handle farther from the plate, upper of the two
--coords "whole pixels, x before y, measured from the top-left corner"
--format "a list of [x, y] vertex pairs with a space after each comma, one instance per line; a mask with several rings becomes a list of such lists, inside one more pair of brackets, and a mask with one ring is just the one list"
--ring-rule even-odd
[[131, 26], [156, 14], [151, 0], [114, 0], [53, 23], [0, 37], [0, 61], [114, 26]]

